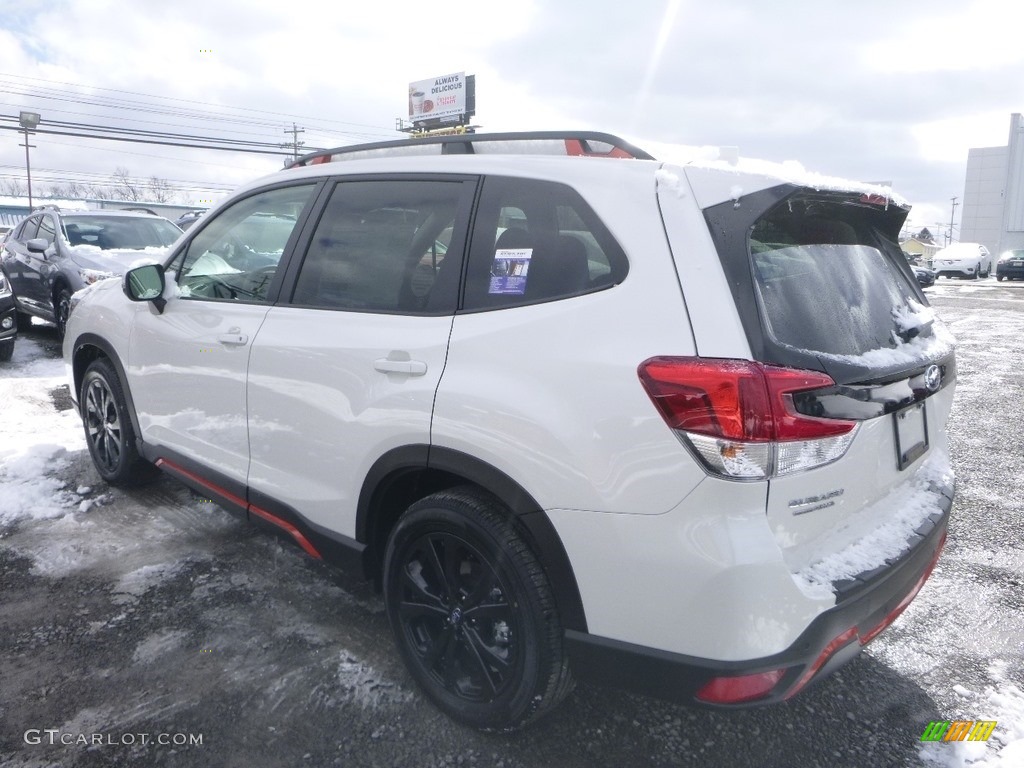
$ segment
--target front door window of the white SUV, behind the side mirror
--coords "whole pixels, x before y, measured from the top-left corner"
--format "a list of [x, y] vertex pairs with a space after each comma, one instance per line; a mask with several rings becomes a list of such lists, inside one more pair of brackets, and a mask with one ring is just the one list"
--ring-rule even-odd
[[264, 302], [314, 184], [246, 198], [207, 222], [172, 268], [185, 298]]

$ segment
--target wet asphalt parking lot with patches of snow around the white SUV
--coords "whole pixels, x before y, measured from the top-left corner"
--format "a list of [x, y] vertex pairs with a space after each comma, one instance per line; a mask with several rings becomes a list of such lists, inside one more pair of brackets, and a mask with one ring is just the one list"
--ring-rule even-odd
[[[1024, 283], [927, 294], [958, 342], [957, 497], [906, 612], [783, 705], [691, 710], [581, 685], [502, 735], [424, 700], [369, 586], [170, 479], [103, 485], [36, 326], [0, 382], [5, 418], [38, 413], [4, 437], [38, 424], [59, 447], [0, 465], [0, 766], [1024, 765]], [[923, 744], [934, 720], [998, 724], [984, 743]]]

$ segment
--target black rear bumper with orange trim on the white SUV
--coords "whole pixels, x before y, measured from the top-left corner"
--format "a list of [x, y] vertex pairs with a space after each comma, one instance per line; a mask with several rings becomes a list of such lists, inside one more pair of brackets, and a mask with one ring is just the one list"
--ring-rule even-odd
[[[945, 544], [953, 488], [942, 488], [940, 510], [918, 528], [910, 549], [885, 568], [834, 585], [837, 604], [819, 614], [785, 650], [740, 662], [697, 658], [567, 631], [566, 647], [578, 678], [684, 703], [751, 707], [780, 701], [852, 659], [892, 624], [932, 572]], [[737, 703], [702, 700], [716, 678], [782, 671], [774, 686]]]

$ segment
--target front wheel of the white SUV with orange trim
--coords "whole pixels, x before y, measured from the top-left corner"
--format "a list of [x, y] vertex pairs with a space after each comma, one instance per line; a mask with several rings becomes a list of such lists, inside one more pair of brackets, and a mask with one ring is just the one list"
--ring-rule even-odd
[[136, 485], [157, 474], [138, 454], [124, 389], [105, 357], [85, 370], [79, 402], [85, 441], [100, 477], [112, 485]]

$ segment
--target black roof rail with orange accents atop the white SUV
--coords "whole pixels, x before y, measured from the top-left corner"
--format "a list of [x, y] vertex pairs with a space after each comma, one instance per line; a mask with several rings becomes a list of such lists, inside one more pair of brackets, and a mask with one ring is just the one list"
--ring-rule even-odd
[[[492, 144], [505, 142], [496, 147]], [[518, 144], [509, 146], [508, 144]], [[465, 133], [458, 136], [425, 136], [349, 144], [303, 155], [287, 168], [354, 160], [356, 155], [568, 155], [589, 158], [630, 158], [654, 160], [643, 150], [618, 136], [597, 131], [517, 131], [508, 133]]]

